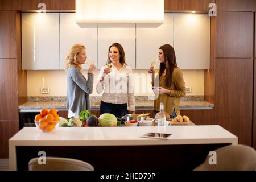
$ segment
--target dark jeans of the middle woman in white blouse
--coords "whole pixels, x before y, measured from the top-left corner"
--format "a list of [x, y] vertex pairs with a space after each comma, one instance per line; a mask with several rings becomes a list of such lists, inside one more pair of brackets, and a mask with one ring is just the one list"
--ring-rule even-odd
[[123, 115], [128, 114], [127, 104], [112, 104], [101, 101], [100, 113], [110, 113], [114, 114], [117, 118], [121, 118]]

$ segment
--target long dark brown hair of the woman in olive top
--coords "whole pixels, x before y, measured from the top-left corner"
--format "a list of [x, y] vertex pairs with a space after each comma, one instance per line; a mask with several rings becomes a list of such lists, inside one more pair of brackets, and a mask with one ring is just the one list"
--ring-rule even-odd
[[[166, 86], [170, 87], [172, 83], [172, 72], [174, 72], [174, 68], [177, 67], [175, 51], [170, 44], [164, 44], [159, 49], [163, 51], [164, 55], [164, 63], [160, 63], [159, 79], [163, 79], [164, 77], [166, 77]], [[162, 78], [164, 69], [166, 69], [166, 65], [166, 75]]]

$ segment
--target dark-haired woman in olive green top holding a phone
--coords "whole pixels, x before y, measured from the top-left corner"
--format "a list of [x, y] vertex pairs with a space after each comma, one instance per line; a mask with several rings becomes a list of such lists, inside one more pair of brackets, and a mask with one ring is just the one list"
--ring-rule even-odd
[[154, 101], [154, 115], [159, 111], [160, 102], [164, 104], [164, 111], [175, 118], [180, 114], [180, 98], [186, 95], [185, 82], [181, 70], [177, 67], [174, 48], [164, 44], [159, 48], [158, 58], [160, 61], [159, 73], [155, 77], [154, 67], [150, 67], [152, 73], [152, 86], [155, 79], [159, 79], [158, 98]]

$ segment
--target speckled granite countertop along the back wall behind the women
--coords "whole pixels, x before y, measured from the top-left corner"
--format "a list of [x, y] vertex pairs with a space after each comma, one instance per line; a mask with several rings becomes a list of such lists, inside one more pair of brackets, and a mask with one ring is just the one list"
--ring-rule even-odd
[[[99, 97], [92, 98], [92, 110], [100, 108]], [[137, 110], [152, 110], [154, 100], [148, 100], [147, 96], [135, 97], [135, 109]], [[65, 97], [52, 97], [49, 100], [46, 98], [28, 98], [28, 102], [19, 106], [19, 109], [42, 109], [55, 108], [58, 110], [67, 110]], [[180, 102], [180, 109], [212, 109], [214, 104], [202, 100], [202, 97], [185, 97]]]

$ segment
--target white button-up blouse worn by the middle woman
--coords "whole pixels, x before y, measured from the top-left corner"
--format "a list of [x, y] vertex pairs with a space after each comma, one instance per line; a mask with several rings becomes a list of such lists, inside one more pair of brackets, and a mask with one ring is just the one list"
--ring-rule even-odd
[[[104, 90], [101, 100], [113, 104], [127, 103], [127, 110], [135, 111], [133, 70], [131, 67], [124, 64], [121, 69], [117, 70], [113, 65], [108, 74], [103, 72], [105, 68], [107, 68], [106, 65], [101, 67], [98, 74], [97, 93]], [[104, 77], [104, 81], [100, 82], [102, 77]]]

